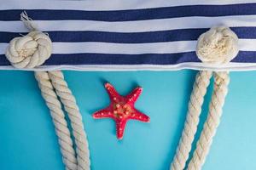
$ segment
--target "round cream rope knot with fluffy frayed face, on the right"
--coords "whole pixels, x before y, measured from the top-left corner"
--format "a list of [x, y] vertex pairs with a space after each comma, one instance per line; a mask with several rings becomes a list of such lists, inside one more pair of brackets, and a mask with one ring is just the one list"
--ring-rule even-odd
[[197, 41], [196, 54], [202, 62], [226, 64], [238, 54], [238, 37], [229, 27], [212, 27], [201, 34]]

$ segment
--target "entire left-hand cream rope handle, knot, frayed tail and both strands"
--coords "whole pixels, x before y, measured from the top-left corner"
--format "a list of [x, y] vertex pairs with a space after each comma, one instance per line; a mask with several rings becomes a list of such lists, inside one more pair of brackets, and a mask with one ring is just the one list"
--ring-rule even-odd
[[[48, 34], [37, 31], [37, 26], [35, 26], [26, 12], [20, 14], [20, 20], [23, 21], [31, 32], [26, 36], [15, 37], [11, 40], [6, 51], [7, 59], [16, 68], [33, 68], [44, 64], [44, 61], [49, 59], [52, 50], [52, 42]], [[66, 169], [89, 170], [90, 152], [84, 132], [82, 116], [73, 94], [67, 88], [67, 82], [65, 82], [62, 72], [35, 72], [35, 77], [38, 80], [39, 88], [55, 124], [55, 132], [61, 145], [61, 154]], [[61, 98], [61, 102], [67, 111], [67, 116], [71, 120], [76, 153], [73, 149], [73, 140], [71, 139], [67, 122], [61, 109], [61, 102], [57, 95]]]

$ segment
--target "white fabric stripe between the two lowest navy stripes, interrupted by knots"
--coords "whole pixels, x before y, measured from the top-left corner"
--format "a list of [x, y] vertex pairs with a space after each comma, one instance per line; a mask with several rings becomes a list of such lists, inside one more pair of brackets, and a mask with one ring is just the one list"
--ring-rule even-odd
[[[256, 51], [256, 39], [240, 39], [241, 51]], [[8, 43], [0, 43], [0, 54]], [[196, 41], [157, 43], [54, 42], [53, 54], [175, 54], [195, 51]]]

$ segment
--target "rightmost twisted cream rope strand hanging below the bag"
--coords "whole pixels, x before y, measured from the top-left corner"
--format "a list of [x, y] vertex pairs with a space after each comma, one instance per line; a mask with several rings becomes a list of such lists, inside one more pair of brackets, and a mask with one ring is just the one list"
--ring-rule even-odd
[[204, 123], [193, 157], [189, 161], [188, 170], [201, 170], [220, 122], [225, 96], [228, 93], [228, 85], [230, 83], [229, 72], [214, 72], [214, 79], [214, 91], [207, 121]]

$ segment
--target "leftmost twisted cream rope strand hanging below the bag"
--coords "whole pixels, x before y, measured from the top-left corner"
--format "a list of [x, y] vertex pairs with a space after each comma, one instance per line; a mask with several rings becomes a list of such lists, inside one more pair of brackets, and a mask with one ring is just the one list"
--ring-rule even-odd
[[49, 81], [48, 73], [45, 71], [35, 72], [35, 77], [38, 81], [38, 86], [42, 96], [49, 108], [50, 116], [55, 125], [55, 133], [58, 136], [61, 146], [62, 160], [67, 170], [77, 170], [77, 160], [73, 149], [73, 140], [70, 136], [70, 131], [67, 128], [67, 121], [64, 112], [61, 109], [61, 102], [55, 94], [54, 88]]

